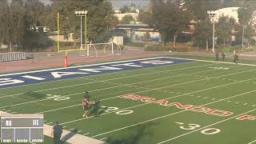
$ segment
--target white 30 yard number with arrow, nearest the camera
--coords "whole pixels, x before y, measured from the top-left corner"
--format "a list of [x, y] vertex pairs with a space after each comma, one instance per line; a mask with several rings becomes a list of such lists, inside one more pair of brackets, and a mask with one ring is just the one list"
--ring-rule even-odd
[[[178, 123], [180, 125], [179, 128], [181, 128], [182, 130], [196, 130], [197, 128], [201, 127], [198, 124], [192, 124], [192, 123], [190, 123], [190, 124], [185, 124], [182, 122], [176, 122], [176, 123]], [[210, 135], [210, 134], [218, 134], [220, 131], [221, 130], [216, 129], [216, 128], [207, 128], [207, 129], [201, 130], [201, 133]]]

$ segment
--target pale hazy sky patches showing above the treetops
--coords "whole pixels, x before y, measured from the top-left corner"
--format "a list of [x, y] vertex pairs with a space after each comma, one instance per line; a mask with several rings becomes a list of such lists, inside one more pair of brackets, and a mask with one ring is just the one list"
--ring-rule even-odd
[[[50, 0], [41, 0], [46, 4], [50, 4]], [[145, 7], [150, 4], [150, 0], [110, 0], [112, 2], [112, 6], [114, 9], [119, 9], [124, 5], [130, 5], [130, 3], [134, 3], [136, 6]]]

